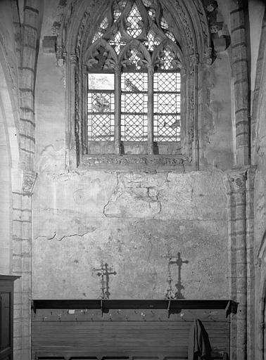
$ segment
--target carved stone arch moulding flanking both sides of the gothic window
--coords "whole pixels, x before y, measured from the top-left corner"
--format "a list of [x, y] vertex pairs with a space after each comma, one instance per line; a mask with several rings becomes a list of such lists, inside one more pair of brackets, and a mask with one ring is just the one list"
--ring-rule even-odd
[[[132, 1], [132, 0], [128, 0]], [[137, 0], [139, 1], [139, 0]], [[182, 51], [182, 160], [193, 160], [198, 169], [198, 71], [212, 63], [207, 17], [201, 0], [155, 0]], [[97, 25], [112, 1], [70, 1], [58, 30], [56, 56], [66, 70], [66, 167], [75, 169], [86, 154], [84, 125], [86, 101], [82, 99], [84, 53], [91, 44]], [[110, 160], [108, 160], [110, 163]], [[118, 163], [118, 160], [115, 160]], [[94, 164], [95, 165], [95, 164]]]

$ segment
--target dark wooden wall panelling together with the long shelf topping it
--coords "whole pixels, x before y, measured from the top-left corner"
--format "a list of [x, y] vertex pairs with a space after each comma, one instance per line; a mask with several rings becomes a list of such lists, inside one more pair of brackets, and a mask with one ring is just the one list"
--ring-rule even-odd
[[200, 319], [212, 358], [229, 354], [227, 300], [34, 300], [32, 359], [187, 359]]

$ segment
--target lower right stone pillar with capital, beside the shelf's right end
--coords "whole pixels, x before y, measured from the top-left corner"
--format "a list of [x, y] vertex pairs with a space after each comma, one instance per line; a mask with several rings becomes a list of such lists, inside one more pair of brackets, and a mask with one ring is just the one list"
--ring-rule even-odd
[[253, 188], [255, 167], [227, 174], [229, 224], [230, 297], [239, 303], [232, 316], [234, 360], [253, 359], [254, 262], [253, 262]]

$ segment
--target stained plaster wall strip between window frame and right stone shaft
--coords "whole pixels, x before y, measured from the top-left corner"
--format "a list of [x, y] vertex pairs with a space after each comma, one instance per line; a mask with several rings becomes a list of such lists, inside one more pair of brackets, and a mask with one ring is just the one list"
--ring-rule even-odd
[[198, 118], [201, 169], [230, 169], [234, 165], [231, 68], [227, 51], [201, 72]]

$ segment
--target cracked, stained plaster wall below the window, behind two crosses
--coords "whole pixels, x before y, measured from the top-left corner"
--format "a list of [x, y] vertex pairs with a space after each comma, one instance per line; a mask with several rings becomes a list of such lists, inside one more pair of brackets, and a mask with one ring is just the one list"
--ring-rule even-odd
[[[168, 250], [189, 261], [182, 267], [186, 298], [217, 297], [220, 286], [227, 296], [220, 171], [43, 172], [32, 200], [34, 298], [98, 297], [92, 269], [101, 259], [118, 273], [111, 298], [163, 298]], [[177, 269], [173, 276], [176, 283]]]

